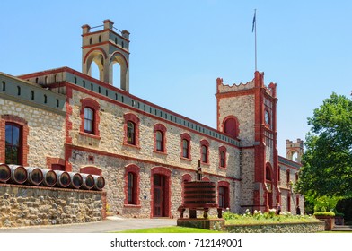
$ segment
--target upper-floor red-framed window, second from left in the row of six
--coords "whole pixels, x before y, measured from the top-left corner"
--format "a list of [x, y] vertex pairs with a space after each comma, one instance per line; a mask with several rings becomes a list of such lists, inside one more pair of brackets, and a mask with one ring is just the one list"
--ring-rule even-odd
[[127, 113], [124, 115], [124, 119], [125, 136], [123, 143], [125, 145], [136, 146], [139, 148], [139, 117], [136, 117], [133, 113]]

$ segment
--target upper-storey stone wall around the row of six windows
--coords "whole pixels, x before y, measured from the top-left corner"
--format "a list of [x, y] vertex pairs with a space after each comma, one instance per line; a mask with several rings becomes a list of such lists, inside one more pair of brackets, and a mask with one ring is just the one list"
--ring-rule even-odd
[[[216, 141], [214, 138], [207, 137], [205, 134], [196, 134], [186, 128], [172, 125], [163, 119], [145, 116], [142, 113], [137, 113], [128, 108], [119, 107], [117, 104], [105, 100], [94, 98], [101, 107], [99, 125], [101, 139], [92, 139], [89, 136], [79, 134], [79, 128], [82, 124], [79, 116], [82, 107], [81, 100], [87, 97], [92, 98], [92, 96], [79, 91], [73, 91], [73, 97], [74, 98], [71, 100], [73, 112], [70, 117], [73, 128], [70, 132], [70, 136], [75, 145], [194, 170], [198, 166], [198, 160], [200, 159], [200, 141], [207, 140], [209, 143], [209, 164], [202, 165], [203, 171], [220, 176], [239, 177], [240, 151], [238, 148]], [[126, 113], [133, 113], [140, 120], [139, 148], [123, 144], [125, 134], [124, 114]], [[155, 124], [163, 124], [166, 126], [166, 154], [154, 151]], [[191, 136], [191, 160], [183, 160], [180, 158], [180, 135], [183, 133], [188, 133]], [[225, 146], [227, 150], [227, 169], [219, 169], [219, 147], [221, 146]]]

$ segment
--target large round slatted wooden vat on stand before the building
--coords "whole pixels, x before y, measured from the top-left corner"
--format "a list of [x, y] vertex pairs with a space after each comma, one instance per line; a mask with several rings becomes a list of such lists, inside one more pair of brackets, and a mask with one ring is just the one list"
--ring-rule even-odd
[[184, 207], [217, 207], [216, 184], [210, 181], [189, 181], [184, 184]]

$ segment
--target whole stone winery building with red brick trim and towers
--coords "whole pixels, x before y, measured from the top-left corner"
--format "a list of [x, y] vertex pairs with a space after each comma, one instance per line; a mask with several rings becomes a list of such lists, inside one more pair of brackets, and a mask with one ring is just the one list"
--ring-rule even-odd
[[216, 80], [211, 128], [129, 93], [127, 30], [110, 20], [101, 30], [82, 28], [82, 73], [0, 73], [0, 163], [99, 174], [110, 211], [126, 217], [177, 217], [198, 160], [220, 207], [304, 209], [292, 190], [301, 165], [277, 155], [277, 85], [266, 86], [263, 73], [232, 86]]

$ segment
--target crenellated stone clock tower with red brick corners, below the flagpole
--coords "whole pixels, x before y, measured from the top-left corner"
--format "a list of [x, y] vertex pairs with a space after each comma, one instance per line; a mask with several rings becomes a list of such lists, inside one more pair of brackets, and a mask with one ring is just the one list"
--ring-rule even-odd
[[277, 84], [264, 73], [229, 86], [216, 80], [217, 129], [241, 141], [243, 211], [268, 211], [280, 200], [277, 164]]

